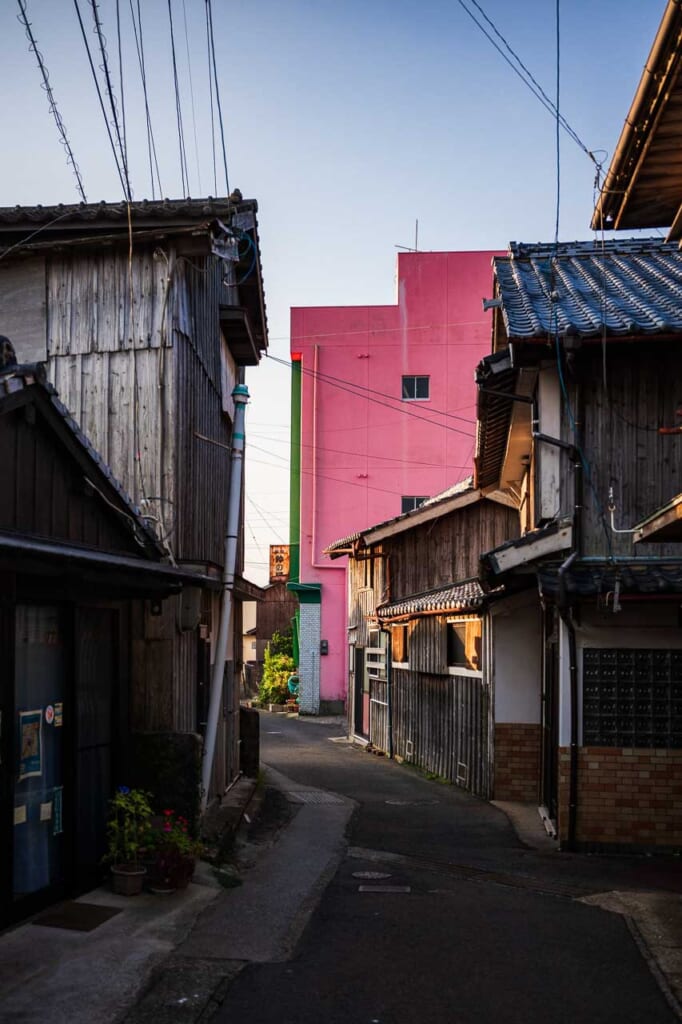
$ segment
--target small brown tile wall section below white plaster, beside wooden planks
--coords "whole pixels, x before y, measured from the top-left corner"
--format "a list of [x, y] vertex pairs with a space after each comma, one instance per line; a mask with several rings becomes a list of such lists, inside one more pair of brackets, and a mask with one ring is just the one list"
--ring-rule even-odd
[[496, 800], [540, 800], [540, 725], [498, 722], [495, 726]]

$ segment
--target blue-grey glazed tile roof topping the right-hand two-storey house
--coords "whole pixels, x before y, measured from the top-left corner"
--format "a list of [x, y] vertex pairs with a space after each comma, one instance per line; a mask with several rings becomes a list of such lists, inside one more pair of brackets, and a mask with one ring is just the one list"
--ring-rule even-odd
[[662, 239], [512, 242], [493, 262], [511, 339], [682, 332], [682, 253]]

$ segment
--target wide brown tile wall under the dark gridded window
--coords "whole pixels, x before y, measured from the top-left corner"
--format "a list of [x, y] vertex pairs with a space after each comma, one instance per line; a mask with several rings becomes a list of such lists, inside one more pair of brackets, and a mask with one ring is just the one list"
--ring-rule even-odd
[[[568, 828], [568, 748], [559, 751], [559, 838]], [[582, 748], [579, 843], [682, 847], [682, 751]]]

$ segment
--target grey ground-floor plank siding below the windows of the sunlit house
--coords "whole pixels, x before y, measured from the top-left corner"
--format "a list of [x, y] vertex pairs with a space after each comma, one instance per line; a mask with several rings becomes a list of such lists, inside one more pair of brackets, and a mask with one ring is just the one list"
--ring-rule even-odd
[[394, 753], [488, 800], [488, 684], [478, 677], [394, 669], [391, 686]]

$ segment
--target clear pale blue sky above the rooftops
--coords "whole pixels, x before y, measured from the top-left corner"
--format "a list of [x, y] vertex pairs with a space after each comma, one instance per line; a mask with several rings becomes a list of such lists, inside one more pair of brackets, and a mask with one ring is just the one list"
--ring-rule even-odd
[[[23, 2], [88, 201], [119, 201], [75, 2]], [[161, 184], [175, 199], [168, 0], [139, 3]], [[555, 3], [479, 3], [555, 98]], [[92, 46], [90, 0], [79, 6]], [[560, 4], [560, 110], [606, 167], [665, 6]], [[119, 0], [129, 165], [135, 198], [151, 199], [130, 8]], [[189, 194], [224, 195], [219, 150], [213, 169], [206, 0], [171, 0], [171, 9]], [[0, 205], [78, 202], [18, 10], [18, 0], [1, 0]], [[116, 0], [98, 10], [121, 109]], [[554, 120], [460, 0], [213, 0], [213, 18], [228, 184], [258, 200], [273, 356], [289, 356], [291, 306], [393, 302], [396, 247], [414, 245], [416, 220], [424, 250], [554, 239]], [[562, 133], [562, 241], [591, 238], [594, 177]], [[263, 584], [268, 545], [288, 540], [289, 371], [268, 358], [248, 385], [246, 574]]]

